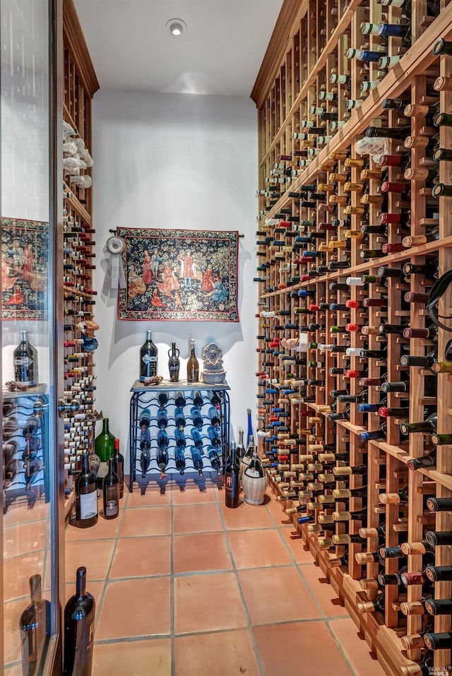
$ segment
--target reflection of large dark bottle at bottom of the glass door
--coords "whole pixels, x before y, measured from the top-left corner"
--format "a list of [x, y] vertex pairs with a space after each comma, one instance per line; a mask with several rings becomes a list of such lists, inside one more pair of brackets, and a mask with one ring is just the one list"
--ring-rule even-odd
[[46, 639], [46, 606], [41, 598], [41, 576], [30, 577], [31, 603], [20, 615], [19, 628], [22, 646], [22, 674], [32, 676], [40, 667]]

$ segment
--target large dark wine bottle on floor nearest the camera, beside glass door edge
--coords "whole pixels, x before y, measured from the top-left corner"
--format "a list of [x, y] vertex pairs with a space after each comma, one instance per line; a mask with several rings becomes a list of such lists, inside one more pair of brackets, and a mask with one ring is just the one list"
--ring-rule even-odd
[[93, 672], [95, 600], [86, 591], [86, 568], [77, 569], [76, 593], [64, 608], [63, 676], [91, 676]]

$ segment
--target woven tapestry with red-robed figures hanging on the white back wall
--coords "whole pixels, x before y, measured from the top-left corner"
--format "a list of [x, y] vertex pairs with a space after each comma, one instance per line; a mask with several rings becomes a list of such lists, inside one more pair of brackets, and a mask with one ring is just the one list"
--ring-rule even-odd
[[239, 321], [238, 232], [120, 227], [127, 285], [118, 317]]

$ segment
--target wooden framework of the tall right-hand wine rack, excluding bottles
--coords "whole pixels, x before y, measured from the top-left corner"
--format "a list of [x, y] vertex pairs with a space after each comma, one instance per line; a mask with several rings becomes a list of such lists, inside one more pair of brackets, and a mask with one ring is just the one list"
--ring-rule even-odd
[[[408, 39], [404, 44], [400, 37], [388, 38], [387, 53], [391, 56], [400, 54], [400, 61], [387, 69], [386, 74], [373, 61], [365, 68], [362, 61], [345, 57], [347, 49], [352, 48], [379, 51], [380, 37], [363, 35], [362, 23], [396, 24], [400, 20], [406, 23], [406, 6], [410, 7], [411, 44], [408, 45]], [[404, 601], [412, 603], [421, 600], [420, 584], [408, 586], [406, 591], [397, 585], [379, 588], [379, 593], [383, 593], [384, 597], [384, 612], [361, 612], [360, 603], [375, 600], [377, 595], [374, 588], [366, 591], [362, 580], [376, 579], [379, 571], [394, 573], [403, 564], [408, 566], [408, 571], [420, 571], [423, 565], [422, 555], [409, 555], [405, 559], [388, 558], [384, 561], [384, 568], [381, 568], [379, 562], [362, 565], [355, 559], [358, 552], [378, 550], [378, 538], [357, 540], [346, 546], [328, 547], [328, 542], [331, 543], [334, 534], [357, 535], [360, 527], [386, 526], [386, 547], [402, 542], [420, 542], [426, 530], [452, 530], [451, 512], [439, 511], [435, 515], [426, 513], [424, 508], [426, 494], [452, 497], [451, 446], [437, 447], [434, 467], [411, 471], [407, 467], [408, 458], [420, 458], [432, 449], [432, 444], [429, 434], [417, 433], [403, 437], [399, 429], [399, 423], [404, 420], [424, 420], [425, 408], [430, 407], [431, 410], [436, 405], [437, 432], [450, 433], [452, 376], [447, 373], [434, 376], [436, 397], [432, 396], [430, 390], [427, 396], [424, 390], [425, 376], [431, 378], [432, 373], [419, 367], [411, 367], [408, 371], [405, 369], [410, 382], [409, 393], [388, 393], [386, 405], [398, 408], [409, 398], [409, 417], [387, 417], [386, 439], [363, 442], [359, 434], [365, 431], [375, 432], [383, 420], [379, 413], [358, 413], [355, 404], [350, 405], [349, 419], [335, 422], [328, 420], [328, 406], [334, 401], [330, 396], [331, 391], [346, 389], [351, 395], [357, 396], [363, 390], [357, 378], [346, 379], [341, 374], [331, 374], [330, 369], [343, 369], [346, 364], [350, 364], [350, 369], [366, 372], [368, 378], [380, 377], [385, 372], [385, 379], [393, 382], [400, 381], [403, 377], [400, 355], [404, 352], [424, 356], [437, 345], [437, 359], [446, 361], [444, 349], [452, 336], [441, 328], [437, 343], [429, 339], [405, 339], [398, 333], [388, 333], [386, 341], [383, 341], [381, 336], [372, 331], [381, 323], [405, 325], [409, 322], [411, 328], [428, 327], [429, 316], [425, 304], [412, 302], [407, 305], [404, 296], [408, 291], [428, 293], [433, 284], [432, 278], [411, 274], [400, 278], [388, 277], [384, 284], [350, 285], [347, 289], [341, 286], [348, 277], [376, 275], [380, 266], [400, 269], [404, 263], [422, 265], [427, 261], [434, 268], [437, 266], [437, 275], [452, 268], [452, 198], [441, 196], [433, 199], [432, 187], [425, 183], [424, 177], [420, 178], [419, 173], [413, 172], [412, 178], [408, 174], [404, 179], [398, 167], [388, 167], [387, 180], [408, 182], [410, 196], [405, 198], [389, 192], [383, 211], [400, 213], [402, 210], [410, 210], [408, 234], [411, 237], [425, 235], [429, 228], [436, 225], [439, 228], [438, 239], [387, 255], [380, 251], [381, 245], [383, 242], [393, 246], [400, 244], [406, 234], [402, 232], [402, 226], [389, 227], [387, 237], [371, 232], [367, 239], [361, 239], [363, 223], [379, 223], [381, 178], [378, 174], [379, 165], [369, 155], [359, 155], [355, 146], [369, 126], [382, 129], [406, 126], [408, 129], [405, 138], [410, 137], [410, 141], [404, 141], [402, 137], [400, 140], [388, 138], [384, 153], [407, 153], [403, 154], [403, 158], [410, 158], [413, 170], [435, 170], [436, 167], [439, 181], [452, 184], [452, 162], [441, 160], [434, 165], [427, 157], [431, 148], [429, 139], [435, 135], [438, 135], [436, 144], [439, 148], [452, 148], [452, 127], [432, 126], [432, 122], [426, 119], [425, 109], [413, 108], [413, 114], [407, 117], [404, 107], [382, 107], [383, 100], [398, 98], [413, 106], [428, 106], [432, 109], [437, 104], [439, 111], [452, 112], [452, 88], [448, 81], [444, 81], [444, 88], [434, 89], [433, 86], [436, 78], [449, 78], [452, 73], [452, 56], [434, 56], [432, 53], [439, 38], [452, 40], [452, 5], [444, 0], [437, 7], [426, 0], [411, 0], [404, 8], [395, 5], [382, 6], [374, 1], [364, 3], [351, 0], [347, 3], [344, 0], [285, 0], [251, 95], [258, 107], [259, 123], [258, 312], [267, 314], [261, 316], [258, 330], [261, 456], [274, 465], [269, 473], [273, 478], [273, 488], [280, 494], [280, 498], [285, 497], [285, 491], [292, 490], [290, 481], [293, 479], [287, 478], [287, 482], [285, 481], [284, 470], [278, 468], [278, 454], [285, 453], [290, 457], [286, 464], [291, 473], [292, 466], [306, 465], [301, 456], [309, 455], [309, 446], [312, 444], [333, 444], [335, 452], [347, 448], [350, 452], [347, 464], [367, 464], [365, 475], [352, 475], [347, 482], [340, 482], [338, 478], [334, 481], [338, 488], [367, 486], [367, 502], [361, 497], [353, 497], [347, 499], [345, 504], [340, 501], [333, 504], [327, 502], [323, 509], [307, 509], [306, 512], [314, 518], [314, 524], [321, 523], [321, 517], [330, 515], [334, 510], [359, 510], [367, 504], [364, 513], [355, 514], [351, 521], [325, 524], [321, 533], [313, 533], [311, 524], [299, 525], [297, 515], [292, 518], [335, 591], [343, 599], [350, 616], [378, 656], [383, 668], [391, 675], [427, 673], [420, 667], [425, 656], [434, 656], [434, 672], [446, 673], [445, 668], [452, 663], [451, 651], [429, 652], [424, 648], [412, 648], [408, 651], [405, 650], [401, 637], [419, 634], [427, 620], [432, 622], [435, 632], [451, 632], [451, 616], [429, 617], [426, 613], [405, 616], [400, 612], [400, 605]], [[330, 76], [337, 73], [350, 76], [350, 83], [332, 84]], [[366, 81], [379, 82], [362, 98], [362, 91], [367, 87], [362, 83]], [[323, 92], [335, 93], [337, 97], [335, 100], [323, 98]], [[325, 143], [319, 141], [319, 134], [309, 134], [309, 127], [302, 125], [304, 121], [310, 121], [316, 127], [330, 128], [328, 121], [326, 124], [319, 123], [318, 115], [309, 112], [313, 106], [323, 107], [327, 114], [332, 113], [331, 117], [340, 122], [338, 129], [321, 135], [331, 137], [324, 139]], [[307, 136], [300, 139], [294, 138], [294, 134]], [[304, 150], [306, 154], [294, 154], [297, 150]], [[282, 159], [284, 156], [289, 159]], [[345, 158], [349, 158], [347, 163], [351, 163], [352, 167], [345, 165]], [[362, 167], [353, 160], [368, 159], [369, 162], [364, 167], [371, 170], [371, 173], [366, 179], [362, 179]], [[302, 160], [301, 164], [299, 160]], [[307, 162], [304, 164], [303, 160]], [[348, 191], [341, 177], [334, 180], [329, 177], [331, 172], [347, 174]], [[311, 206], [309, 191], [299, 188], [312, 184], [316, 185], [317, 193], [323, 194], [326, 191], [325, 210], [319, 209], [319, 200]], [[333, 187], [333, 193], [328, 192], [330, 186]], [[290, 195], [297, 192], [305, 193], [308, 206], [304, 206], [299, 197]], [[363, 201], [364, 194], [368, 197]], [[334, 196], [334, 201], [331, 200], [331, 195]], [[409, 203], [404, 203], [404, 199]], [[330, 206], [333, 207], [331, 211], [328, 210]], [[290, 225], [281, 227], [280, 223], [287, 218], [290, 219]], [[347, 225], [329, 229], [333, 219], [345, 220]], [[314, 225], [303, 225], [305, 220], [313, 221]], [[319, 223], [326, 224], [322, 226], [323, 230]], [[345, 230], [351, 231], [351, 234], [347, 232], [346, 236]], [[288, 237], [285, 231], [290, 233]], [[304, 246], [307, 251], [321, 251], [320, 256], [295, 263], [294, 261], [302, 259], [304, 250], [303, 244], [299, 248], [294, 246], [295, 236], [313, 232], [319, 235], [319, 239], [313, 239]], [[264, 239], [266, 244], [259, 244]], [[363, 250], [378, 250], [379, 254], [376, 257], [364, 255], [363, 258]], [[340, 261], [346, 261], [345, 267], [334, 269], [333, 265], [332, 270], [322, 268], [315, 276], [310, 274], [319, 265], [328, 266], [329, 263]], [[307, 275], [308, 278], [298, 280], [297, 275]], [[295, 297], [293, 293], [290, 295], [291, 292], [302, 290], [310, 292], [311, 296], [303, 298]], [[296, 308], [307, 308], [311, 302], [343, 305], [346, 299], [359, 302], [364, 297], [387, 297], [387, 314], [379, 307], [365, 309], [361, 304], [347, 312], [338, 309], [335, 314], [325, 309], [311, 314], [295, 312]], [[439, 303], [439, 314], [450, 315], [451, 308], [449, 290]], [[290, 309], [290, 314], [278, 315], [278, 312], [287, 309]], [[273, 312], [275, 316], [268, 316], [268, 313]], [[270, 341], [278, 343], [283, 338], [298, 337], [298, 329], [286, 328], [287, 323], [295, 327], [299, 324], [304, 329], [302, 333], [305, 333], [307, 324], [311, 322], [321, 325], [321, 328], [307, 332], [309, 343], [314, 346], [308, 348], [306, 353], [292, 352], [281, 345], [269, 348]], [[341, 327], [347, 323], [366, 325], [371, 327], [371, 331], [363, 334], [342, 329], [338, 333], [331, 333], [333, 326]], [[339, 348], [350, 346], [367, 350], [381, 350], [387, 345], [386, 355], [384, 359], [366, 360], [319, 348], [319, 345], [328, 343], [335, 343]], [[309, 362], [315, 362], [314, 367], [309, 366]], [[311, 387], [297, 384], [297, 381], [307, 379], [321, 381], [321, 385]], [[378, 386], [368, 386], [367, 391], [366, 403], [377, 404], [381, 401], [383, 395]], [[288, 417], [278, 417], [278, 414], [272, 417], [273, 408], [280, 409]], [[345, 405], [338, 404], [336, 410], [344, 411]], [[309, 417], [314, 420], [305, 423], [305, 420], [309, 421]], [[272, 427], [272, 422], [276, 422], [275, 427]], [[293, 435], [292, 440], [285, 439], [284, 435], [278, 438], [278, 425], [281, 424], [288, 428], [287, 434]], [[268, 442], [268, 434], [276, 438]], [[335, 463], [336, 466], [343, 464], [340, 461]], [[297, 468], [296, 474], [299, 475], [299, 472]], [[317, 479], [315, 472], [314, 479]], [[280, 485], [283, 482], [286, 488], [281, 490]], [[302, 482], [303, 480], [300, 483]], [[307, 480], [300, 490], [306, 490], [306, 484]], [[379, 502], [381, 492], [396, 493], [406, 486], [409, 496], [407, 506], [385, 506]], [[324, 494], [331, 496], [331, 487], [326, 486]], [[304, 502], [306, 501], [287, 499], [282, 504], [290, 507], [303, 505]], [[347, 556], [344, 558], [344, 555]], [[434, 564], [451, 565], [451, 547], [436, 547]], [[436, 583], [434, 598], [451, 598], [451, 583]]]

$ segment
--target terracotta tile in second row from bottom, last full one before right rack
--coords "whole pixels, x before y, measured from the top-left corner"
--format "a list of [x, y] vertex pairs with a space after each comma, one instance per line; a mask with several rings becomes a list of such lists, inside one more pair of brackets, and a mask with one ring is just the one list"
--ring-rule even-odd
[[242, 570], [239, 580], [252, 624], [321, 617], [295, 567]]

